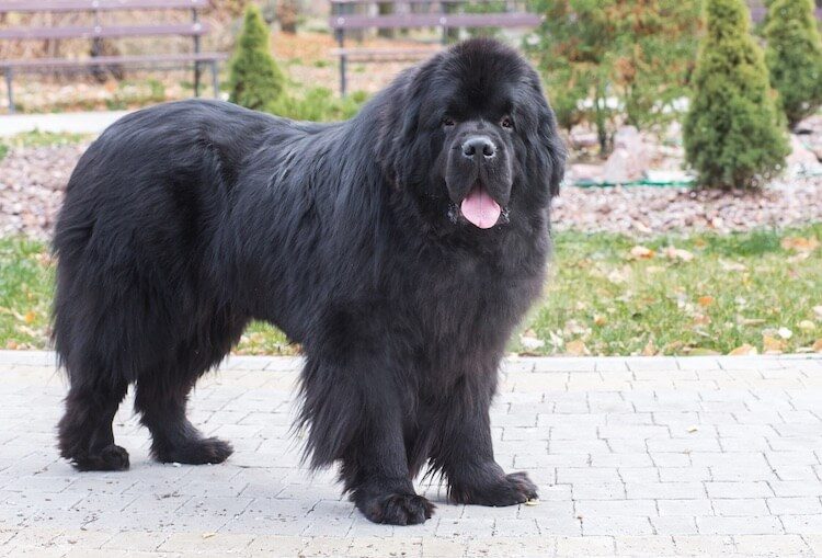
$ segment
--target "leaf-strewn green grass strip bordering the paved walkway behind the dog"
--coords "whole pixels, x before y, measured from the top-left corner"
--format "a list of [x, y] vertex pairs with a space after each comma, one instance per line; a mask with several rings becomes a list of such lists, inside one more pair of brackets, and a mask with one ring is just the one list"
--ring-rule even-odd
[[[636, 240], [557, 236], [546, 296], [511, 350], [527, 354], [822, 351], [822, 224], [786, 231]], [[0, 348], [48, 344], [46, 246], [0, 240]], [[253, 323], [237, 352], [289, 354]]]

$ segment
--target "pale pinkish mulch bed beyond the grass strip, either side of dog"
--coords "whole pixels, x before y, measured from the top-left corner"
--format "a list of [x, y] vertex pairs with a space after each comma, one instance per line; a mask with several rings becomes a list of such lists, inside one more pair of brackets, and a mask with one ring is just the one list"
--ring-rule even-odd
[[[0, 236], [49, 238], [62, 190], [85, 147], [14, 148], [0, 161]], [[822, 178], [776, 182], [757, 194], [569, 186], [555, 203], [553, 221], [557, 230], [635, 235], [822, 221]]]

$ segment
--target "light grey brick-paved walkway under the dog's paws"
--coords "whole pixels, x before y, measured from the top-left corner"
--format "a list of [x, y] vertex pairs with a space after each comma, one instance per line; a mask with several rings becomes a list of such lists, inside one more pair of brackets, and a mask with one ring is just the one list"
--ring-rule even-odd
[[0, 556], [822, 556], [822, 358], [506, 362], [496, 455], [538, 505], [437, 503], [422, 526], [374, 525], [289, 436], [295, 358], [233, 357], [192, 418], [237, 452], [157, 465], [126, 401], [125, 472], [57, 458], [65, 394], [49, 353], [0, 352]]

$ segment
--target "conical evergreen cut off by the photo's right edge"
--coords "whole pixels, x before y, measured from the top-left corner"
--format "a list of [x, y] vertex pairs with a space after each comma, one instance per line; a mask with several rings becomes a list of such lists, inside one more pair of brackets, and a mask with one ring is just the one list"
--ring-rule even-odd
[[813, 0], [774, 0], [765, 26], [770, 83], [791, 127], [822, 105], [822, 37]]

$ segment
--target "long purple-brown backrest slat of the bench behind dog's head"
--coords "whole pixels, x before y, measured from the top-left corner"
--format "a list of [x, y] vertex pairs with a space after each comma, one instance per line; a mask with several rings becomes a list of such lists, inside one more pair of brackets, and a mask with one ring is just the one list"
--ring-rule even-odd
[[402, 27], [533, 27], [541, 22], [535, 13], [424, 13], [396, 15], [332, 15], [334, 30]]

